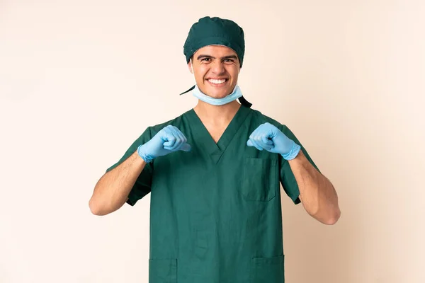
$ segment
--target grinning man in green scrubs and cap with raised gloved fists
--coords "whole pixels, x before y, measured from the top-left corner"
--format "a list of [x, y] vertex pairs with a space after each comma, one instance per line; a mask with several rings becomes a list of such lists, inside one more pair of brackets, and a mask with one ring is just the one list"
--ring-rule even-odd
[[284, 282], [280, 183], [324, 224], [339, 219], [334, 187], [288, 127], [243, 98], [239, 25], [201, 18], [183, 52], [198, 105], [148, 127], [98, 181], [91, 211], [151, 192], [151, 283]]

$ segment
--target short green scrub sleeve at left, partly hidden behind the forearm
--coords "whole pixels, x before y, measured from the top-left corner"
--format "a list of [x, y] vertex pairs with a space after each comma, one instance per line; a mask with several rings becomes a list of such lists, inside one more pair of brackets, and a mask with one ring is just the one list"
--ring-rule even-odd
[[[147, 141], [151, 139], [151, 131], [150, 127], [148, 127], [145, 132], [142, 133], [140, 137], [138, 137], [132, 145], [128, 148], [127, 151], [125, 151], [125, 154], [123, 157], [120, 158], [120, 160], [113, 164], [113, 166], [106, 169], [106, 172], [111, 171], [113, 168], [119, 166], [123, 161], [125, 161], [128, 157], [130, 157], [132, 154], [135, 153], [137, 150], [137, 147], [140, 146], [140, 144], [145, 144]], [[131, 206], [135, 205], [136, 202], [142, 197], [145, 197], [150, 191], [152, 186], [152, 173], [153, 173], [153, 166], [152, 163], [147, 163], [145, 168], [143, 168], [143, 171], [140, 173], [139, 177], [137, 178], [135, 185], [132, 187], [132, 190], [130, 191], [128, 195], [127, 203]]]

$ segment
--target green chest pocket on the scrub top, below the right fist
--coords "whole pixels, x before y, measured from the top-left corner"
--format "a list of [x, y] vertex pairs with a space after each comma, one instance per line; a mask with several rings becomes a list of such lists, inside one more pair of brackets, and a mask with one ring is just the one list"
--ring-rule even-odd
[[278, 160], [271, 158], [244, 159], [242, 197], [248, 201], [268, 202], [276, 196]]

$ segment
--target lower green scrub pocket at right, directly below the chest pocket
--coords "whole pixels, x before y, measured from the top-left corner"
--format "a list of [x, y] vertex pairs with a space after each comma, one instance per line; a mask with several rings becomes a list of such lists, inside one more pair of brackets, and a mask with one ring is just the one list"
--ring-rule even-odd
[[285, 255], [251, 258], [251, 283], [285, 283]]

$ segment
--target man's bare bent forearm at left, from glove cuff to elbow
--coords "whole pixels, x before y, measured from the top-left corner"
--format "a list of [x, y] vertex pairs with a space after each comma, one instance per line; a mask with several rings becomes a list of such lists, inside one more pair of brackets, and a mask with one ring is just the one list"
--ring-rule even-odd
[[91, 213], [106, 215], [122, 207], [145, 165], [135, 151], [119, 166], [105, 173], [96, 183], [89, 201]]

